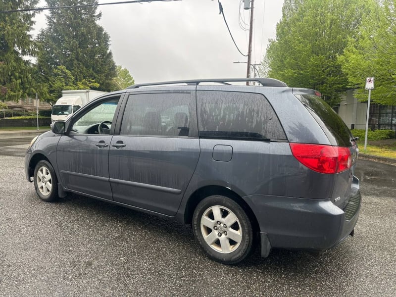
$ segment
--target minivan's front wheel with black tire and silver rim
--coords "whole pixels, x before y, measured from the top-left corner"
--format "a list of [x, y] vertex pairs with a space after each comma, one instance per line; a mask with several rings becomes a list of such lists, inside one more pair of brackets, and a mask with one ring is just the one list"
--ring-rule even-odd
[[55, 201], [58, 197], [58, 183], [51, 164], [46, 160], [37, 163], [33, 175], [37, 196], [46, 202]]

